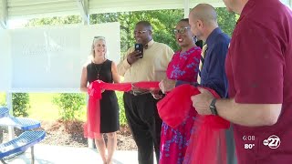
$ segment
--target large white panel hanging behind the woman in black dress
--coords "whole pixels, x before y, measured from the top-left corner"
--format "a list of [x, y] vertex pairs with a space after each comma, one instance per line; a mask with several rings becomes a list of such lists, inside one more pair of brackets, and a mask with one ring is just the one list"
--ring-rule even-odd
[[12, 92], [78, 92], [94, 36], [105, 36], [109, 59], [120, 60], [120, 24], [11, 31]]

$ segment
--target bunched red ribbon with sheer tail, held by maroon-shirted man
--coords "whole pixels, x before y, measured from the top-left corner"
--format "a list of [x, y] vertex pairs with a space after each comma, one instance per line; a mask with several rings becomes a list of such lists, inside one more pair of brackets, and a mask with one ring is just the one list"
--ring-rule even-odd
[[[214, 97], [214, 90], [208, 89]], [[198, 88], [191, 85], [175, 87], [172, 92], [158, 102], [157, 108], [162, 120], [172, 128], [183, 123], [190, 110], [194, 110], [191, 97], [200, 94]], [[217, 116], [196, 115], [194, 132], [191, 136], [184, 164], [226, 163], [226, 144], [224, 129], [230, 123]], [[191, 129], [190, 129], [191, 131]]]

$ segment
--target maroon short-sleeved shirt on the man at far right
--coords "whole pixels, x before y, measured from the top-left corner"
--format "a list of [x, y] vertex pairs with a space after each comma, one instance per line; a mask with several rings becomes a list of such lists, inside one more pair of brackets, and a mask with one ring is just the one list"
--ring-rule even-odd
[[292, 163], [291, 10], [279, 0], [249, 0], [235, 26], [225, 68], [229, 96], [236, 103], [282, 104], [274, 126], [234, 126], [239, 163]]

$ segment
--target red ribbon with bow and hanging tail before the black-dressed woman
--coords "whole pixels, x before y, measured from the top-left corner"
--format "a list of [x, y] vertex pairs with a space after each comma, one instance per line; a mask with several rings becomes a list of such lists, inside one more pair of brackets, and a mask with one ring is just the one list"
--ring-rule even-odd
[[129, 92], [132, 87], [145, 90], [159, 90], [159, 82], [142, 81], [137, 83], [105, 83], [100, 80], [93, 81], [89, 85], [89, 106], [88, 120], [84, 125], [84, 136], [86, 138], [96, 138], [100, 133], [100, 105], [102, 90], [116, 90]]

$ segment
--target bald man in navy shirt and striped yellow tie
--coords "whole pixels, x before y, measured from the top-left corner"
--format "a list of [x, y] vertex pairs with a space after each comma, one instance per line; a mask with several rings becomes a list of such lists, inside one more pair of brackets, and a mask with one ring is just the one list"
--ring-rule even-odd
[[[220, 97], [226, 98], [227, 78], [224, 65], [227, 55], [230, 37], [225, 35], [217, 23], [217, 14], [212, 5], [199, 4], [193, 7], [190, 15], [190, 25], [194, 36], [202, 39], [205, 43], [203, 47], [203, 67], [199, 71], [201, 81], [198, 86], [214, 89]], [[236, 163], [235, 144], [232, 129], [226, 130], [227, 158], [228, 164]]]

